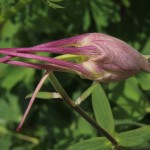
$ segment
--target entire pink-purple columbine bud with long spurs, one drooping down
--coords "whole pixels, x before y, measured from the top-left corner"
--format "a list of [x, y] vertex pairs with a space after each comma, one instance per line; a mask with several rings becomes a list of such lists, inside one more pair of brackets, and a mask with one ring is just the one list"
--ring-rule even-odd
[[[50, 58], [39, 56], [37, 52], [63, 55]], [[0, 63], [46, 70], [18, 129], [21, 128], [36, 94], [50, 71], [74, 72], [84, 78], [106, 83], [129, 78], [140, 71], [150, 72], [149, 56], [141, 55], [117, 38], [100, 33], [83, 34], [29, 48], [1, 48], [0, 54], [6, 55], [0, 58]], [[14, 57], [35, 59], [39, 62], [13, 61]]]

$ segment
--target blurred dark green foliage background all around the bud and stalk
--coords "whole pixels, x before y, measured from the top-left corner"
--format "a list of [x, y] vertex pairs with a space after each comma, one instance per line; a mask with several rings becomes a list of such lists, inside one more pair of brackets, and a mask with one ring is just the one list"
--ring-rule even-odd
[[[29, 47], [100, 32], [150, 54], [149, 6], [149, 0], [0, 0], [0, 47]], [[0, 64], [0, 149], [64, 150], [98, 135], [61, 100], [42, 99], [34, 103], [21, 132], [15, 131], [29, 102], [24, 98], [43, 73]], [[56, 76], [73, 99], [92, 83], [70, 73]], [[149, 74], [102, 86], [118, 132], [150, 124]], [[49, 81], [42, 91], [54, 91]], [[90, 97], [81, 106], [93, 116]]]

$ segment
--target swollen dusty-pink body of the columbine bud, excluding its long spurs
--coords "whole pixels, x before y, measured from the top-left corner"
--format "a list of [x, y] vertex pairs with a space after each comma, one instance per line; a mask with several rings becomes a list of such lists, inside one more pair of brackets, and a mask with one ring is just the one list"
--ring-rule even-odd
[[126, 79], [140, 71], [150, 72], [150, 63], [134, 48], [125, 42], [99, 33], [85, 34], [79, 43], [81, 46], [94, 46], [96, 53], [82, 62], [91, 72], [92, 80], [114, 82]]

